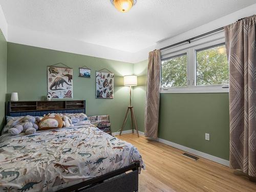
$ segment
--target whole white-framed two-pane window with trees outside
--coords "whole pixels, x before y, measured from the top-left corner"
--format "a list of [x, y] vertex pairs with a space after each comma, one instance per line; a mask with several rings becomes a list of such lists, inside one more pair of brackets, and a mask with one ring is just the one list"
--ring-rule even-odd
[[224, 38], [161, 52], [161, 93], [228, 92]]

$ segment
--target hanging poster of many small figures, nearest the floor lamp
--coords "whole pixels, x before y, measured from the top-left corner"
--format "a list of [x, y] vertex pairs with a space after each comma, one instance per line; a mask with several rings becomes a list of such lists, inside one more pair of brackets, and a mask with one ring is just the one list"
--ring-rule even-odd
[[96, 71], [96, 98], [114, 98], [114, 73]]

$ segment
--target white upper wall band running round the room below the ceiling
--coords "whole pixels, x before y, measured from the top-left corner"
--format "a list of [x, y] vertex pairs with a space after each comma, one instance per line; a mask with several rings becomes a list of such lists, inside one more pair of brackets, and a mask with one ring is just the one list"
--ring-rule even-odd
[[6, 39], [8, 34], [7, 40], [9, 42], [136, 63], [139, 61], [146, 60], [148, 58], [148, 52], [153, 51], [154, 49], [160, 49], [162, 47], [175, 44], [176, 42], [209, 32], [211, 30], [218, 29], [220, 27], [236, 22], [236, 20], [240, 18], [247, 17], [253, 14], [256, 14], [256, 4], [241, 9], [239, 11], [233, 12], [231, 14], [228, 14], [219, 19], [213, 20], [212, 22], [197, 27], [195, 29], [186, 31], [180, 35], [156, 42], [154, 46], [143, 49], [137, 53], [120, 51], [108, 47], [90, 44], [88, 42], [84, 42], [77, 39], [70, 39], [65, 36], [54, 36], [51, 34], [41, 33], [38, 31], [22, 29], [15, 26], [7, 25], [1, 6], [0, 28], [2, 29]]

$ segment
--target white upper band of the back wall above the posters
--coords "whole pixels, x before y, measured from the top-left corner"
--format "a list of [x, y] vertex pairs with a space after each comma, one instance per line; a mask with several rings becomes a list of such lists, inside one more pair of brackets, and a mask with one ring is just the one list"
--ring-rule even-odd
[[112, 49], [104, 46], [90, 44], [66, 36], [56, 36], [30, 29], [8, 25], [8, 41], [17, 44], [35, 46], [40, 48], [65, 51], [81, 55], [113, 59], [124, 62], [133, 62], [132, 53]]

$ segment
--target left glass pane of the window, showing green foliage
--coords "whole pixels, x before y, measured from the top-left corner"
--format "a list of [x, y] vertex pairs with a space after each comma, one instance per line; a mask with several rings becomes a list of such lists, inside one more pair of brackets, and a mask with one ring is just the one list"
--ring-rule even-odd
[[187, 54], [162, 60], [161, 87], [187, 86]]

